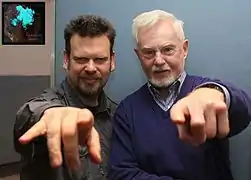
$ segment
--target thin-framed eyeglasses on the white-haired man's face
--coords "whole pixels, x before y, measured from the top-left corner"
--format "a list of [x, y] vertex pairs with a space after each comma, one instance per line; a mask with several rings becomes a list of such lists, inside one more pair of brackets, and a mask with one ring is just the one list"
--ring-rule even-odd
[[157, 52], [163, 56], [173, 56], [178, 49], [175, 46], [164, 46], [161, 48], [143, 48], [140, 50], [142, 56], [146, 59], [153, 59], [156, 57]]

